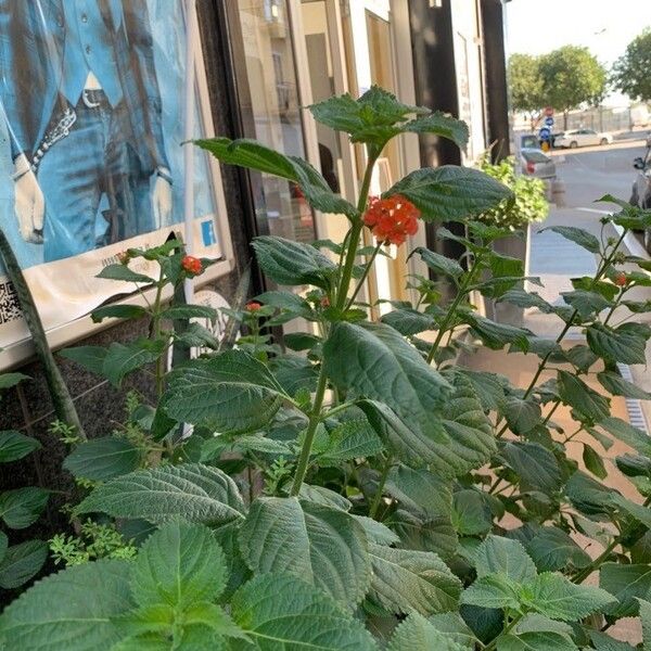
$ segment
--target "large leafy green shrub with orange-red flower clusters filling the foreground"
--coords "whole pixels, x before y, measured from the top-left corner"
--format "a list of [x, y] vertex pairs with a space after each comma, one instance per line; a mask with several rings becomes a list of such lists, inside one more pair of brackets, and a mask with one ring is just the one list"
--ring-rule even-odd
[[[124, 436], [81, 442], [66, 468], [93, 482], [76, 516], [144, 541], [135, 560], [90, 561], [39, 582], [0, 616], [0, 640], [17, 651], [604, 650], [622, 648], [605, 633], [613, 623], [640, 616], [651, 644], [651, 444], [611, 416], [608, 397], [651, 397], [617, 367], [644, 363], [651, 328], [614, 321], [624, 309], [651, 308], [629, 294], [651, 285], [649, 263], [620, 252], [630, 229], [651, 226], [651, 213], [607, 196], [618, 209], [602, 219], [601, 240], [554, 228], [599, 265], [552, 305], [522, 289], [522, 263], [493, 250], [511, 230], [475, 219], [512, 197], [484, 173], [421, 169], [369, 201], [391, 138], [427, 131], [463, 146], [461, 123], [378, 88], [311, 111], [366, 144], [356, 205], [304, 161], [253, 141], [199, 142], [349, 219], [341, 243], [255, 240], [267, 277], [297, 292], [269, 291], [230, 310], [247, 327], [241, 345], [189, 322], [212, 310], [162, 304], [167, 285], [208, 264], [188, 259], [179, 243], [129, 251], [102, 271], [158, 290], [151, 306], [95, 312], [148, 317], [151, 337], [65, 355], [115, 384], [153, 368], [159, 399], [133, 410], [143, 438], [126, 441], [136, 450]], [[464, 265], [413, 252], [456, 295], [443, 302], [434, 279], [417, 279], [417, 301], [372, 322], [357, 299], [365, 279], [383, 245], [399, 245], [419, 219], [467, 227], [468, 237], [437, 228], [463, 245]], [[616, 239], [612, 224], [623, 231]], [[374, 246], [359, 246], [365, 228]], [[140, 256], [158, 263], [157, 278], [131, 270]], [[556, 315], [560, 335], [492, 321], [474, 307], [475, 293]], [[270, 337], [269, 327], [294, 319], [308, 331]], [[468, 346], [455, 336], [460, 328], [490, 348], [537, 356], [531, 383], [451, 363]], [[586, 344], [561, 345], [572, 328]], [[169, 347], [194, 346], [214, 352], [165, 372]], [[540, 383], [546, 371], [552, 379]], [[585, 382], [588, 373], [603, 392]], [[572, 409], [573, 432], [553, 421], [561, 405]], [[595, 441], [583, 443], [585, 471], [566, 454], [579, 433]], [[616, 463], [636, 499], [598, 481], [608, 470], [597, 446], [613, 438], [634, 450]], [[588, 556], [578, 534], [598, 537], [603, 551]], [[598, 587], [585, 584], [593, 573]]]

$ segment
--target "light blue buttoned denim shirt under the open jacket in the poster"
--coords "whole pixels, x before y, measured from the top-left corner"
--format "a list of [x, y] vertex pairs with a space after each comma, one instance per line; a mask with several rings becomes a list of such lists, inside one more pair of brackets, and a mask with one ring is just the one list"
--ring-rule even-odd
[[107, 25], [99, 3], [107, 0], [65, 0], [65, 48], [61, 91], [75, 106], [86, 85], [88, 73], [98, 78], [112, 106], [123, 99], [115, 61], [114, 24]]

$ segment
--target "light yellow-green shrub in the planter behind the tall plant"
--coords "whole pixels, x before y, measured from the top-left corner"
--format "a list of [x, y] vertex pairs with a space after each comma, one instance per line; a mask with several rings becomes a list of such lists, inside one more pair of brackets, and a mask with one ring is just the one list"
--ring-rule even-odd
[[482, 221], [518, 230], [526, 228], [527, 225], [534, 221], [544, 221], [547, 218], [549, 203], [545, 197], [545, 182], [523, 174], [516, 175], [513, 156], [503, 158], [494, 165], [490, 163], [488, 154], [486, 154], [482, 159], [480, 169], [510, 188], [514, 196], [514, 201], [503, 201], [496, 208], [481, 215]]

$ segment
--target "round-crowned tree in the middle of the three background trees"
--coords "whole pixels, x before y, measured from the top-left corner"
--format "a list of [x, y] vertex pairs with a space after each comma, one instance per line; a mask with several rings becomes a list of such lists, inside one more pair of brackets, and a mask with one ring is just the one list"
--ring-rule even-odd
[[563, 128], [567, 128], [567, 112], [580, 104], [598, 104], [607, 88], [605, 68], [587, 48], [563, 46], [540, 61], [542, 89], [547, 103], [563, 112]]

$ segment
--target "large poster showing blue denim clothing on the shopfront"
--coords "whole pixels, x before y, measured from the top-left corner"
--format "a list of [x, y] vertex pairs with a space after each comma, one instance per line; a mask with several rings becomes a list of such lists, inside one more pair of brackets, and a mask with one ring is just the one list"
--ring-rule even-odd
[[[0, 0], [0, 227], [46, 330], [133, 291], [94, 278], [117, 253], [183, 230], [183, 4]], [[218, 179], [199, 150], [193, 180], [194, 253], [219, 257]], [[0, 347], [26, 335], [2, 276]]]

